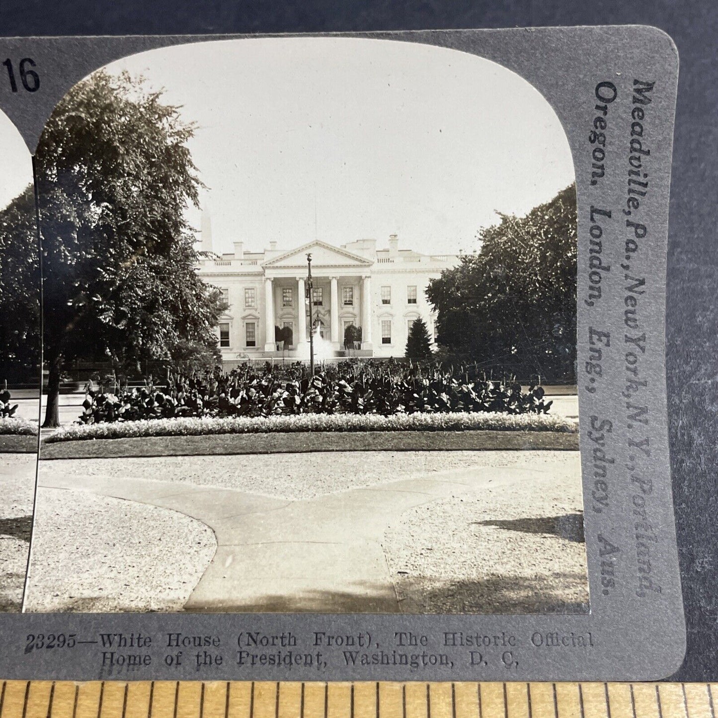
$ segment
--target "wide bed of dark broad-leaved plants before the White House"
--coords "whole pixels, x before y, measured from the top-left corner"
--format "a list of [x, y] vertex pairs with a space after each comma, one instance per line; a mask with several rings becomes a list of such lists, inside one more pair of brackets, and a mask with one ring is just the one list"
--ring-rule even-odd
[[544, 389], [491, 381], [475, 365], [373, 363], [347, 360], [309, 376], [301, 363], [261, 372], [250, 366], [224, 373], [169, 373], [161, 385], [116, 393], [89, 390], [80, 421], [171, 419], [178, 416], [393, 414], [498, 411], [547, 414]]

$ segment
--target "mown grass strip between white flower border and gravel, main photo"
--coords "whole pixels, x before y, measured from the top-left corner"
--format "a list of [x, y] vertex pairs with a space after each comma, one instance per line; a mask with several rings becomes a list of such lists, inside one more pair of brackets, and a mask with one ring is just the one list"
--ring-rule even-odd
[[297, 432], [143, 437], [113, 441], [42, 443], [41, 459], [281, 454], [350, 451], [578, 451], [579, 435], [569, 432]]

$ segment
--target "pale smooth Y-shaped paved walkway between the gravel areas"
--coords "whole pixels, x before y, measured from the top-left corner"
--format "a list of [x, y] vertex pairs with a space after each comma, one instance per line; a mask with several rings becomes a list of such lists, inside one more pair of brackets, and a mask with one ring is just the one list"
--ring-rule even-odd
[[58, 461], [41, 462], [39, 486], [168, 508], [210, 526], [217, 551], [185, 610], [401, 612], [382, 542], [387, 528], [406, 511], [444, 498], [475, 496], [489, 484], [504, 498], [519, 485], [526, 492], [529, 482], [539, 491], [555, 480], [578, 484], [577, 452], [575, 460], [539, 462], [538, 468], [532, 454], [544, 452], [526, 452], [521, 462], [516, 453], [505, 461], [510, 466], [432, 472], [303, 500], [157, 480], [150, 474], [119, 478], [102, 475], [101, 469], [94, 475], [63, 472], [65, 462]]

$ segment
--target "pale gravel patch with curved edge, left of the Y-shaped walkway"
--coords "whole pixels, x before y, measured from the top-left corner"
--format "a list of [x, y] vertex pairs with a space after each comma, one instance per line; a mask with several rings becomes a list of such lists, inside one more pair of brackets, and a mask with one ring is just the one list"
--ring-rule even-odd
[[213, 531], [185, 513], [41, 488], [24, 610], [182, 611], [216, 550]]

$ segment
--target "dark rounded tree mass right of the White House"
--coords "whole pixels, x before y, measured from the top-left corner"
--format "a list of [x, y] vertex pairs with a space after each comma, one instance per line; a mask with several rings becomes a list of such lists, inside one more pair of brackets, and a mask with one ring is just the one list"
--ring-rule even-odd
[[575, 381], [576, 189], [499, 218], [480, 230], [477, 253], [429, 282], [437, 342], [487, 373]]

